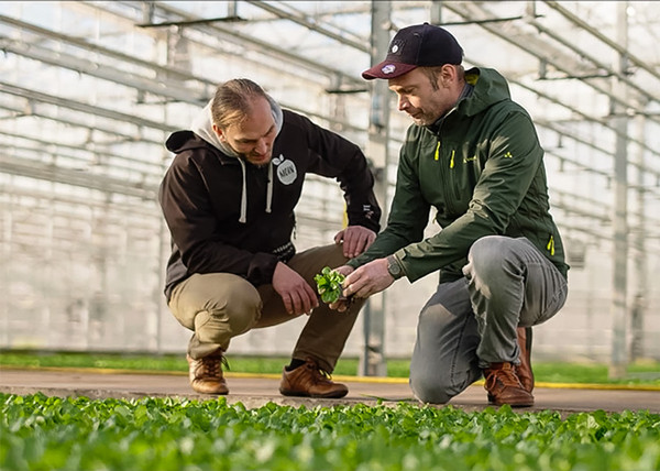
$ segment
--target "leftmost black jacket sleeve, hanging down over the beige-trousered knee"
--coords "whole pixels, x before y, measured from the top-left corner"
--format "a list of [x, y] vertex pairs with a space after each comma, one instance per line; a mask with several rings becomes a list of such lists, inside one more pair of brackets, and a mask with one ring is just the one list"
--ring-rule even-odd
[[175, 157], [160, 188], [160, 202], [173, 243], [189, 273], [232, 273], [253, 285], [271, 283], [277, 258], [227, 244], [218, 237], [208, 190], [198, 168]]

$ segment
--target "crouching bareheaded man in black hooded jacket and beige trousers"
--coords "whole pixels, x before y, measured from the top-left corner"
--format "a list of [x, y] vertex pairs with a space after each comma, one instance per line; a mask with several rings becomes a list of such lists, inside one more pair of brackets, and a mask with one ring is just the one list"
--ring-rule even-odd
[[[194, 331], [187, 355], [193, 388], [227, 394], [222, 363], [230, 339], [307, 314], [279, 391], [344, 396], [348, 388], [329, 373], [364, 300], [337, 314], [319, 305], [314, 276], [361, 254], [380, 229], [363, 153], [280, 109], [248, 79], [221, 84], [191, 130], [173, 133], [166, 146], [176, 156], [160, 190], [172, 234], [165, 296]], [[296, 253], [294, 209], [307, 173], [337, 178], [348, 227], [333, 244]]]

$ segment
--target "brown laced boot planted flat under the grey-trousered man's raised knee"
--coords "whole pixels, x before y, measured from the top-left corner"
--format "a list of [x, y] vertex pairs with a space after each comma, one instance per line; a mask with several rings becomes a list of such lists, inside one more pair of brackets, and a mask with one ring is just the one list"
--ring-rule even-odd
[[508, 404], [512, 407], [529, 407], [534, 405], [534, 396], [520, 384], [516, 376], [514, 365], [508, 362], [491, 363], [484, 370], [488, 392], [488, 402], [501, 406]]

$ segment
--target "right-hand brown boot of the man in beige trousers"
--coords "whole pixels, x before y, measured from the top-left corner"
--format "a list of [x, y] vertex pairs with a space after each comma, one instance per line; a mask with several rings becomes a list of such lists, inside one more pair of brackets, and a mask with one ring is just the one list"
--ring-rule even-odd
[[321, 370], [311, 358], [305, 364], [292, 371], [282, 372], [279, 393], [285, 396], [327, 397], [339, 398], [349, 393], [344, 384], [334, 383], [330, 374]]

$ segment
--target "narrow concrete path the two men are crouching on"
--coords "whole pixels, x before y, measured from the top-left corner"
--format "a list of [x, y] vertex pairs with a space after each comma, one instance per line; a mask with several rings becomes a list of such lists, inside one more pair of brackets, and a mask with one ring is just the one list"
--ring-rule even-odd
[[[227, 401], [245, 407], [266, 403], [314, 407], [316, 405], [383, 404], [416, 402], [407, 380], [385, 377], [334, 376], [349, 386], [341, 399], [285, 397], [278, 392], [278, 375], [227, 373], [230, 388]], [[131, 373], [128, 371], [89, 369], [0, 370], [0, 392], [28, 395], [41, 392], [48, 396], [86, 396], [89, 398], [187, 397], [207, 399], [213, 396], [195, 393], [185, 374]], [[606, 410], [649, 410], [660, 413], [660, 388], [657, 386], [605, 386], [586, 384], [540, 383], [535, 388], [536, 405], [525, 410], [561, 413]], [[475, 383], [454, 397], [451, 405], [465, 410], [487, 407], [483, 385]]]

